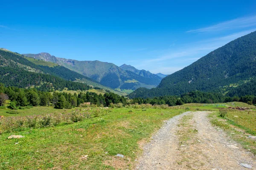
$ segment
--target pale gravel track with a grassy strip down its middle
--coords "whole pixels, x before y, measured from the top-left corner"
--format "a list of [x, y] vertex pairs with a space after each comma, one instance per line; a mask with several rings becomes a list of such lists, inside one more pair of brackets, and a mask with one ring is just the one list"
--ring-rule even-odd
[[139, 170], [256, 169], [255, 157], [213, 127], [210, 112], [185, 112], [169, 119], [145, 145]]

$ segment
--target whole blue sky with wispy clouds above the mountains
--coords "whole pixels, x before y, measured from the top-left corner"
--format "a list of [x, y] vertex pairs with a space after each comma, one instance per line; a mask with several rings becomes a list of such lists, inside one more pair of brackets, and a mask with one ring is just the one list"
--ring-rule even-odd
[[256, 31], [255, 8], [255, 0], [8, 0], [0, 48], [171, 74]]

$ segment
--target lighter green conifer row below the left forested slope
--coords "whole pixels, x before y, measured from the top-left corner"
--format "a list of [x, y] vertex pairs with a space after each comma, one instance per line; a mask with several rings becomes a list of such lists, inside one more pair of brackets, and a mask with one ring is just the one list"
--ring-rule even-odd
[[32, 106], [49, 106], [54, 108], [72, 108], [77, 107], [84, 102], [90, 102], [97, 106], [109, 106], [111, 103], [127, 104], [127, 98], [119, 96], [114, 93], [96, 94], [94, 92], [80, 92], [80, 93], [66, 93], [66, 92], [47, 92], [39, 91], [36, 88], [17, 88], [17, 87], [5, 87], [0, 84], [0, 106], [4, 104], [6, 99], [11, 100], [10, 107], [15, 109], [16, 107]]

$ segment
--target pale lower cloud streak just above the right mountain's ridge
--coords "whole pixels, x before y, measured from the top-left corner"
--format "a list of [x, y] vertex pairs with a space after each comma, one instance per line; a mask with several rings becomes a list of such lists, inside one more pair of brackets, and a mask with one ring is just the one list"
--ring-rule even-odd
[[256, 29], [241, 31], [223, 37], [192, 42], [184, 45], [183, 47], [165, 51], [165, 54], [151, 59], [138, 59], [137, 61], [133, 61], [131, 65], [138, 69], [149, 70], [152, 73], [161, 72], [163, 74], [172, 74], [192, 62], [195, 62], [209, 52], [253, 31], [256, 31]]

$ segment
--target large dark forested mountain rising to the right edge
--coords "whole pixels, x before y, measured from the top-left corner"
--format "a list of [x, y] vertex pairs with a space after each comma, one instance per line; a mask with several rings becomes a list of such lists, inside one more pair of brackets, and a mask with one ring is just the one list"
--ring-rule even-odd
[[[227, 93], [256, 77], [256, 31], [218, 48], [162, 79], [157, 88], [140, 88], [134, 97], [180, 95], [189, 91]], [[233, 90], [232, 90], [233, 91]]]

